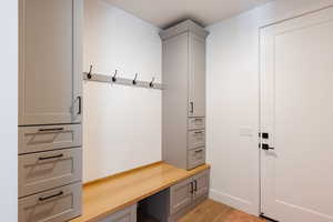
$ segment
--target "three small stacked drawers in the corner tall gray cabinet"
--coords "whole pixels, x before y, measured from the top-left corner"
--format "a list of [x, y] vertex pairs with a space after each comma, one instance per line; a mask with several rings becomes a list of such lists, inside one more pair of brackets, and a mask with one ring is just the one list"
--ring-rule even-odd
[[204, 118], [189, 118], [188, 123], [188, 169], [205, 163]]

